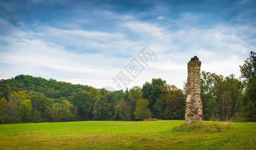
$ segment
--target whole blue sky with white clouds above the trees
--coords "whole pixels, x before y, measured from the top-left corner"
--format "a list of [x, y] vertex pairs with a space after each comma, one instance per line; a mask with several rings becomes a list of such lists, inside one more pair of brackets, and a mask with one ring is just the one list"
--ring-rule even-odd
[[240, 76], [256, 51], [255, 0], [0, 0], [0, 79], [19, 74], [113, 89], [162, 78], [183, 88], [187, 62]]

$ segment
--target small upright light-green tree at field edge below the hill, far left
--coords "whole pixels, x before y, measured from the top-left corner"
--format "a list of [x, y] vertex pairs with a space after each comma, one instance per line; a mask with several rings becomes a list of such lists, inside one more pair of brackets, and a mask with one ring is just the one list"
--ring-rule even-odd
[[29, 99], [24, 99], [19, 105], [19, 115], [22, 122], [28, 122], [31, 120], [31, 102]]

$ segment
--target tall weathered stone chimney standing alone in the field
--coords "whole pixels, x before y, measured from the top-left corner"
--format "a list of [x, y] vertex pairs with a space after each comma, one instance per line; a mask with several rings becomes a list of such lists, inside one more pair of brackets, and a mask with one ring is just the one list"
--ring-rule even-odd
[[187, 97], [185, 123], [194, 123], [202, 120], [202, 100], [200, 84], [201, 61], [194, 56], [187, 63]]

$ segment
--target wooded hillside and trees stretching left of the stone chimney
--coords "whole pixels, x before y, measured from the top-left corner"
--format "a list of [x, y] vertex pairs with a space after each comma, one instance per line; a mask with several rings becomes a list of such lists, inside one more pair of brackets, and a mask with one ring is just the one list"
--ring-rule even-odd
[[[0, 81], [0, 123], [183, 119], [184, 98], [180, 89], [161, 78], [152, 78], [142, 88], [111, 92], [52, 78], [17, 75]], [[141, 100], [142, 105], [147, 104], [135, 109]], [[147, 109], [147, 115], [141, 115], [143, 109]]]

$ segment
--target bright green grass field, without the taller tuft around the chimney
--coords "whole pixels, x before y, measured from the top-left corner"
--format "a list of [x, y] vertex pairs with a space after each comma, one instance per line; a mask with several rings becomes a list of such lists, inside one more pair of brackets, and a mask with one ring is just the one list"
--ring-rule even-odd
[[256, 149], [256, 123], [171, 131], [182, 120], [0, 124], [0, 149]]

